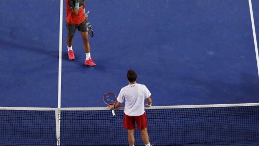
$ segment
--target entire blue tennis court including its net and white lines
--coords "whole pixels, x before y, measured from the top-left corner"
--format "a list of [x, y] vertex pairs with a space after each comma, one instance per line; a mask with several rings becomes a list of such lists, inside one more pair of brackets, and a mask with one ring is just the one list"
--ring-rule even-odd
[[62, 2], [61, 27], [59, 0], [0, 3], [0, 145], [128, 145], [102, 96], [129, 69], [152, 93], [154, 146], [259, 145], [259, 1], [85, 0], [94, 67], [78, 32], [67, 57]]

